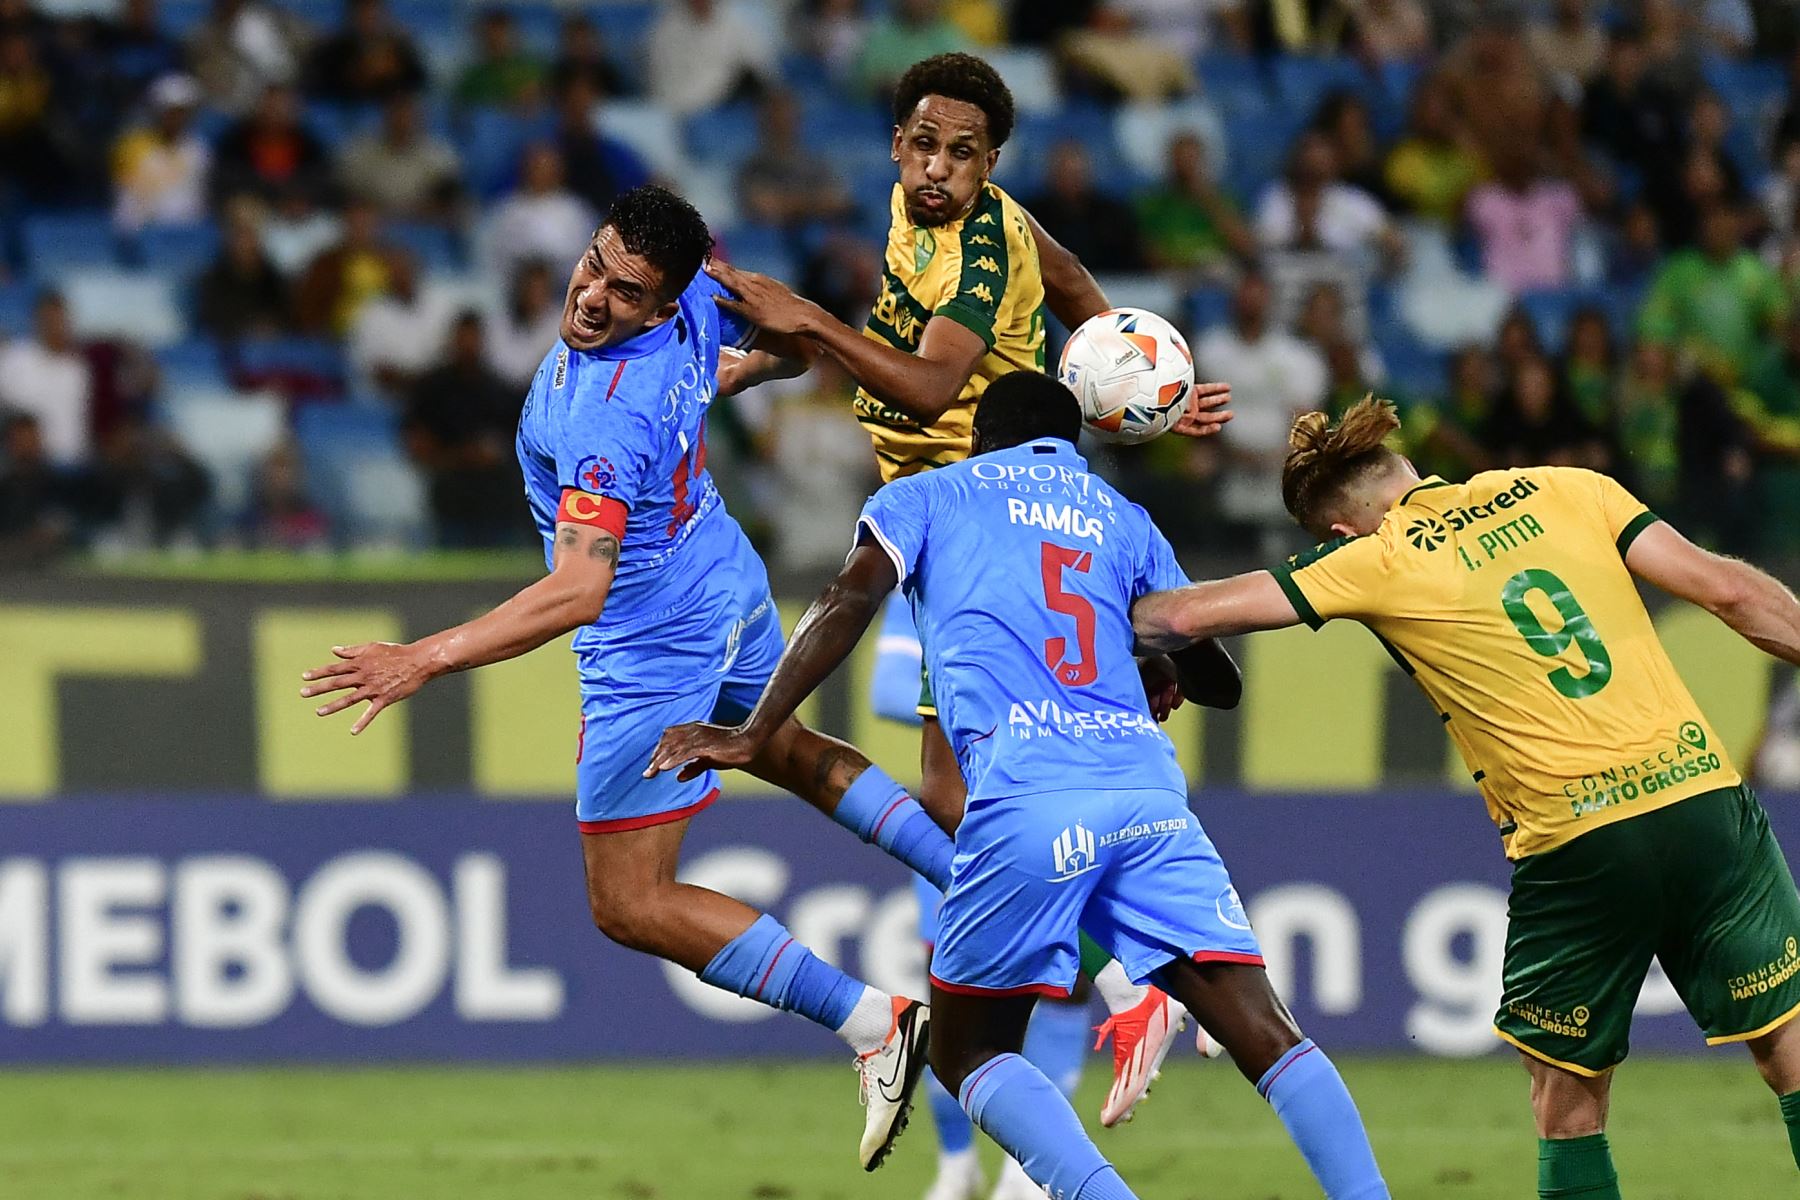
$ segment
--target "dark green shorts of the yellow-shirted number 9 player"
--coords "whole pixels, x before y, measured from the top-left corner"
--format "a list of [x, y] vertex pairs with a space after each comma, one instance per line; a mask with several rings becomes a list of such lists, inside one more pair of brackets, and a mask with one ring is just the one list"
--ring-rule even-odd
[[1800, 1013], [1800, 896], [1742, 784], [1521, 858], [1507, 916], [1494, 1031], [1575, 1074], [1625, 1060], [1652, 957], [1710, 1045]]

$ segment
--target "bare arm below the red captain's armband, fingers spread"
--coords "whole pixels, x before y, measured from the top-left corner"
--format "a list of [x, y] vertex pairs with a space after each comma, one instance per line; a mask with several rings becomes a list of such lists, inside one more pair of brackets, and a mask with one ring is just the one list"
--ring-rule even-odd
[[319, 705], [319, 716], [369, 702], [349, 727], [360, 734], [376, 714], [400, 703], [439, 675], [517, 658], [569, 630], [599, 621], [619, 565], [619, 538], [610, 529], [556, 525], [554, 567], [499, 608], [454, 630], [416, 642], [333, 646], [337, 662], [301, 675], [302, 696], [344, 693]]

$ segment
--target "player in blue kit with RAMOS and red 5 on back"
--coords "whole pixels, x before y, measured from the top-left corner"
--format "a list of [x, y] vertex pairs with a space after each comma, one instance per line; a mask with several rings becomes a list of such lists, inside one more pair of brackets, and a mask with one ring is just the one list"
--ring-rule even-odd
[[[1019, 1056], [1040, 995], [1067, 995], [1076, 925], [1156, 979], [1269, 1099], [1327, 1196], [1388, 1196], [1336, 1067], [1269, 986], [1224, 864], [1188, 811], [1134, 658], [1134, 597], [1184, 583], [1143, 509], [1076, 453], [1075, 396], [1033, 371], [981, 398], [974, 457], [884, 486], [749, 720], [670, 730], [653, 770], [752, 761], [844, 660], [895, 587], [913, 603], [968, 781], [932, 959], [931, 1065], [1053, 1196], [1132, 1196], [1055, 1085]], [[979, 561], [981, 570], [968, 563]], [[1197, 698], [1235, 700], [1217, 644], [1183, 648]]]

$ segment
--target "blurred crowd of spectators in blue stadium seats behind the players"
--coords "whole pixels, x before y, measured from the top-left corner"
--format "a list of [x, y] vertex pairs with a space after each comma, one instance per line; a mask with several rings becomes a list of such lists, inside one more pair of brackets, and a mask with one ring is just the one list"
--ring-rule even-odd
[[[0, 0], [0, 561], [531, 545], [511, 426], [610, 200], [664, 178], [720, 254], [860, 320], [878, 104], [950, 49], [1021, 94], [997, 180], [1233, 385], [1219, 439], [1096, 450], [1179, 545], [1289, 547], [1292, 416], [1373, 390], [1427, 470], [1593, 466], [1800, 551], [1786, 4], [52, 7]], [[788, 570], [873, 486], [848, 389], [716, 410], [715, 473]]]

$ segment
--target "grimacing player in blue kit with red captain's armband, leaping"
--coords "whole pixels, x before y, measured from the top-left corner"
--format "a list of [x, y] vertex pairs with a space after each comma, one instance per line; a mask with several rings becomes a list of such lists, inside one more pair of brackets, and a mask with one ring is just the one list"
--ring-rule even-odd
[[[675, 878], [718, 777], [644, 779], [668, 725], [743, 714], [781, 655], [769, 579], [706, 470], [722, 345], [751, 329], [700, 273], [706, 221], [661, 187], [619, 196], [569, 279], [562, 340], [518, 423], [518, 462], [549, 574], [493, 612], [405, 646], [333, 648], [301, 694], [367, 702], [351, 732], [439, 675], [517, 658], [576, 630], [576, 817], [596, 925], [706, 982], [799, 1013], [857, 1052], [875, 1169], [905, 1126], [929, 1009], [814, 957], [770, 916]], [[754, 775], [805, 797], [940, 887], [949, 837], [851, 747], [788, 721]]]

